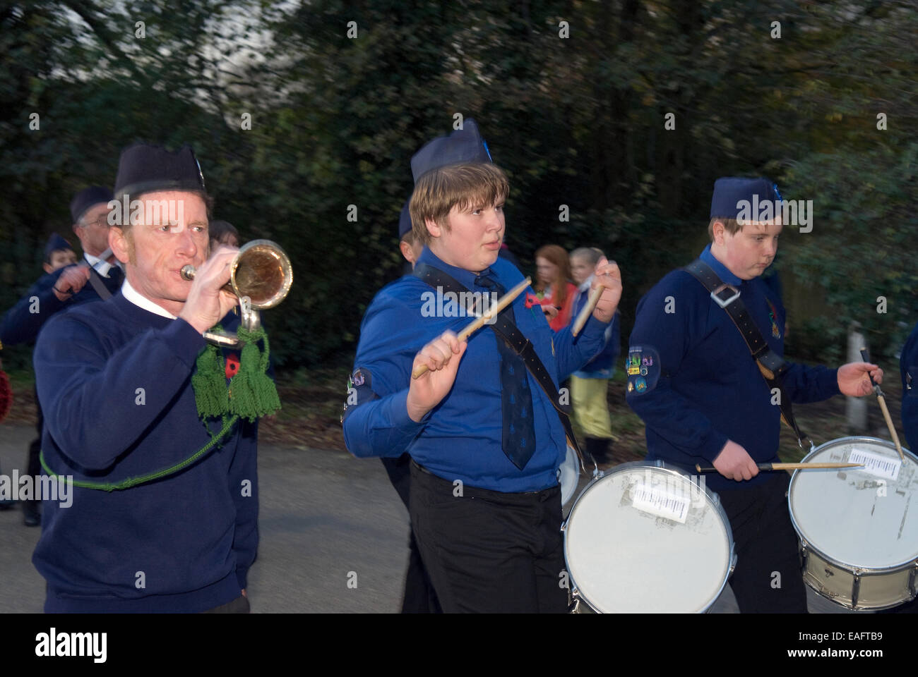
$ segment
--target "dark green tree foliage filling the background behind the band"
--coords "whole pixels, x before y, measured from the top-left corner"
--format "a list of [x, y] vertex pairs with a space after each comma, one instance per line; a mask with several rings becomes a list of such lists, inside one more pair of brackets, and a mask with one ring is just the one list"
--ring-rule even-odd
[[123, 146], [188, 142], [214, 216], [293, 261], [293, 291], [264, 314], [278, 364], [349, 361], [403, 268], [410, 157], [461, 114], [509, 173], [526, 272], [549, 242], [620, 263], [623, 340], [641, 295], [704, 246], [714, 179], [767, 174], [815, 208], [812, 233], [782, 237], [789, 348], [837, 357], [858, 321], [891, 351], [918, 310], [916, 22], [904, 0], [6, 4], [0, 307], [38, 276], [50, 231], [75, 242], [70, 196], [112, 184]]

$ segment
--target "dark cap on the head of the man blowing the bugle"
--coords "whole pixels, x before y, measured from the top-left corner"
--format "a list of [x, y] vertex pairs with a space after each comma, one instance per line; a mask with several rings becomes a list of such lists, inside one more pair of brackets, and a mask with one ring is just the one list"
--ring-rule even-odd
[[121, 151], [115, 194], [133, 200], [152, 191], [195, 191], [205, 193], [204, 174], [195, 151], [185, 144], [179, 150], [135, 143]]

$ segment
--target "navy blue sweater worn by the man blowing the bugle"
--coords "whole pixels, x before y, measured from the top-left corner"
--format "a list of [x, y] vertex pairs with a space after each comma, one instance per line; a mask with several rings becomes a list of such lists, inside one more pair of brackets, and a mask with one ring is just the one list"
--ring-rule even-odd
[[[207, 444], [190, 381], [204, 347], [185, 320], [121, 294], [52, 317], [34, 358], [50, 469], [118, 482]], [[256, 439], [257, 423], [240, 422], [170, 477], [111, 493], [74, 488], [69, 507], [45, 501], [32, 558], [48, 580], [45, 610], [198, 612], [238, 597], [258, 543]]]

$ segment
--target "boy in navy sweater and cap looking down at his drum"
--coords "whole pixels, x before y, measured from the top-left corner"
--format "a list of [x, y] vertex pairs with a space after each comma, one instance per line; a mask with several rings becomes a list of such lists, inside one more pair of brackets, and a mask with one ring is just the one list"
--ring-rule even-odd
[[718, 179], [711, 244], [641, 299], [626, 362], [626, 398], [646, 424], [647, 461], [719, 473], [706, 483], [733, 528], [731, 587], [741, 612], [807, 611], [789, 474], [759, 475], [756, 465], [778, 461], [781, 416], [802, 439], [791, 402], [864, 396], [868, 372], [877, 383], [883, 373], [865, 362], [830, 370], [783, 361], [784, 307], [761, 279], [778, 251], [781, 212], [767, 179]]

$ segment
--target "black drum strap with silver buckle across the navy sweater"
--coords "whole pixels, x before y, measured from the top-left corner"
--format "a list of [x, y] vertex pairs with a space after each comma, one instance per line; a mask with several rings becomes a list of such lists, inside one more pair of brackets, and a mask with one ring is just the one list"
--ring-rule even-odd
[[[711, 266], [700, 259], [689, 263], [684, 270], [690, 272], [696, 280], [704, 285], [704, 288], [711, 293], [711, 299], [714, 303], [720, 305], [730, 316], [730, 319], [733, 320], [733, 324], [736, 325], [736, 328], [739, 329], [740, 334], [743, 336], [752, 359], [756, 361], [758, 371], [762, 373], [762, 378], [765, 379], [769, 388], [778, 388], [781, 397], [778, 404], [781, 409], [781, 420], [794, 431], [800, 449], [806, 450], [807, 448], [803, 446], [803, 439], [809, 440], [810, 438], [797, 425], [790, 398], [784, 392], [784, 373], [788, 370], [788, 363], [774, 350], [771, 350], [765, 338], [762, 338], [762, 332], [756, 327], [756, 323], [753, 321], [752, 316], [749, 315], [749, 311], [746, 310], [743, 300], [740, 298], [740, 290], [732, 284], [723, 283]], [[810, 448], [812, 449], [812, 440], [810, 441]]]

